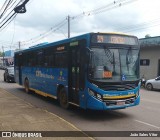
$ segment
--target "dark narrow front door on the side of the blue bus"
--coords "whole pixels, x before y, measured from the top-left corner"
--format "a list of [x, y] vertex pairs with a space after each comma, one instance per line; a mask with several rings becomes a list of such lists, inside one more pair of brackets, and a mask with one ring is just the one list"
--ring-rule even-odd
[[69, 102], [79, 105], [80, 52], [78, 46], [69, 50]]

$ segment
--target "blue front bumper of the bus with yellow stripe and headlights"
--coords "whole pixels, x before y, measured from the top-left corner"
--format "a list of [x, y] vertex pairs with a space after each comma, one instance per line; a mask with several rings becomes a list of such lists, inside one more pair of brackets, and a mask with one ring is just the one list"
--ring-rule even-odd
[[[131, 104], [123, 104], [123, 105], [112, 105], [109, 106], [106, 104], [105, 100], [99, 100], [95, 96], [91, 96], [88, 91], [88, 99], [87, 99], [87, 108], [89, 109], [95, 109], [95, 110], [115, 110], [115, 109], [124, 109], [131, 106], [139, 105], [140, 103], [140, 95], [139, 95], [139, 89], [140, 84], [133, 90], [126, 90], [126, 91], [104, 91], [102, 89], [97, 88], [95, 85], [88, 82], [88, 89], [95, 91], [98, 94], [103, 95], [110, 95], [114, 99], [115, 102], [127, 102], [129, 99], [125, 99], [125, 96], [130, 96], [131, 94], [137, 94], [136, 99], [134, 100], [134, 103]], [[118, 97], [121, 97], [122, 99], [118, 99]], [[124, 98], [123, 98], [124, 97]], [[113, 101], [113, 100], [108, 100]], [[94, 102], [94, 103], [93, 103]]]

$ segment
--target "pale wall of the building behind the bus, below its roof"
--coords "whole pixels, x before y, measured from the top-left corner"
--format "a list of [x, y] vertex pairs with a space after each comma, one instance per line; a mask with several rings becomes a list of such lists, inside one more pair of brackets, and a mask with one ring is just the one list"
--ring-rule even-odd
[[141, 47], [140, 59], [149, 59], [149, 66], [140, 66], [140, 77], [153, 79], [158, 76], [158, 60], [160, 60], [160, 46]]

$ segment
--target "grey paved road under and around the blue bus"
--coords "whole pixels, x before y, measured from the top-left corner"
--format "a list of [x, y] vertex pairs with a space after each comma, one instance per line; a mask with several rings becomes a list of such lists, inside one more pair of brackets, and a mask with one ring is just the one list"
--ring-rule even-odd
[[[26, 100], [34, 106], [52, 112], [84, 131], [160, 131], [160, 91], [141, 89], [139, 106], [118, 111], [85, 111], [77, 107], [62, 109], [58, 102], [34, 93], [26, 94], [16, 83], [3, 82], [0, 70], [0, 87]], [[106, 139], [106, 138], [97, 138]], [[116, 139], [116, 138], [110, 138]], [[128, 138], [118, 138], [128, 139]], [[135, 138], [130, 138], [135, 139]], [[141, 139], [140, 137], [136, 139]], [[144, 139], [144, 138], [143, 138]], [[151, 139], [151, 138], [145, 138]], [[158, 139], [158, 138], [154, 138]]]

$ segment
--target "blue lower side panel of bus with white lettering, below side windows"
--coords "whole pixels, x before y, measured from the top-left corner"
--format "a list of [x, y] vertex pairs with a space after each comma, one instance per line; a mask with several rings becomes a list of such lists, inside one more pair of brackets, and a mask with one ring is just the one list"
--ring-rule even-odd
[[68, 71], [63, 68], [23, 67], [22, 81], [29, 80], [29, 87], [57, 96], [57, 86], [68, 85]]

